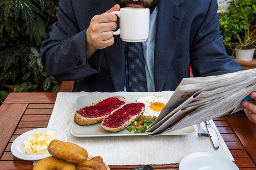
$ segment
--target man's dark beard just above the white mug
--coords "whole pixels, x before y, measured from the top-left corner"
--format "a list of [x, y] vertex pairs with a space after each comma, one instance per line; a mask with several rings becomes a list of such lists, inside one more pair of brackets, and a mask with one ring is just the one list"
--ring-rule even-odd
[[155, 7], [160, 3], [161, 0], [152, 0], [151, 2], [146, 2], [145, 0], [133, 1], [133, 0], [115, 0], [121, 8], [128, 7], [129, 4], [140, 5], [141, 7], [148, 8], [150, 14], [153, 13]]

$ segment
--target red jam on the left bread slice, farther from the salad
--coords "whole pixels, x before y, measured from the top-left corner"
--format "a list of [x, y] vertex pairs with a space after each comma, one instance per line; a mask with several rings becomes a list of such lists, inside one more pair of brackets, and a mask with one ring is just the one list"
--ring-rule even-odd
[[77, 111], [83, 117], [94, 118], [108, 115], [116, 108], [119, 108], [125, 102], [119, 100], [117, 97], [109, 97], [93, 106], [85, 106]]

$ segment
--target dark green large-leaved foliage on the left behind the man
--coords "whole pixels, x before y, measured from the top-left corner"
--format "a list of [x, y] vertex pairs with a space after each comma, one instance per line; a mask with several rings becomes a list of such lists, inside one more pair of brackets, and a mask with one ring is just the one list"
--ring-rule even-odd
[[43, 70], [39, 52], [57, 20], [57, 5], [58, 0], [0, 1], [0, 104], [10, 90], [59, 90], [61, 82]]

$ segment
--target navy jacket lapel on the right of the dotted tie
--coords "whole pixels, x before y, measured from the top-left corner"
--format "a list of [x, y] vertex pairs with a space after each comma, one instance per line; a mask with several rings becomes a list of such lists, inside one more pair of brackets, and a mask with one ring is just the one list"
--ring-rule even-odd
[[172, 64], [177, 39], [185, 11], [178, 6], [183, 0], [162, 0], [158, 7], [155, 39], [155, 91], [162, 91]]

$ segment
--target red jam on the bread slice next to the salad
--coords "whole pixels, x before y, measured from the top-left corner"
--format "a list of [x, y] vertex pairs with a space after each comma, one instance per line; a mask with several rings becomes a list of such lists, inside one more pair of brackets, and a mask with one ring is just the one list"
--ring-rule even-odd
[[137, 115], [145, 108], [144, 103], [129, 103], [116, 110], [112, 115], [106, 117], [102, 123], [109, 128], [118, 128], [124, 124], [130, 117]]

